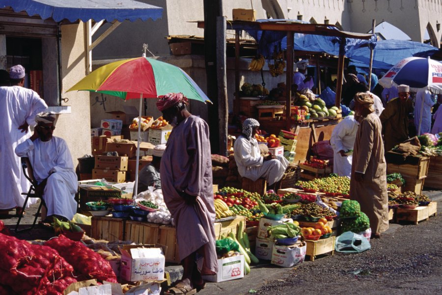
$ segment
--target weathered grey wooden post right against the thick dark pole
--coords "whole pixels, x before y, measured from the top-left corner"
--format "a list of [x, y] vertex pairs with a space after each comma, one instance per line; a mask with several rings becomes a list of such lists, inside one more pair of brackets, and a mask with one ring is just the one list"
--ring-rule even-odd
[[218, 116], [220, 120], [220, 154], [227, 156], [227, 77], [226, 77], [226, 17], [217, 17], [217, 77], [218, 77]]

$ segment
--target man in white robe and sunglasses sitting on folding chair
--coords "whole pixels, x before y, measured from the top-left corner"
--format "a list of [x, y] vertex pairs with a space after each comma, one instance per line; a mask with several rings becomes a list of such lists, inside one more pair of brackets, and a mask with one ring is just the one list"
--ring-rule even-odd
[[[37, 194], [43, 195], [47, 213], [42, 212], [45, 225], [53, 222], [53, 216], [61, 220], [72, 220], [77, 212], [74, 200], [77, 192], [77, 176], [71, 153], [66, 142], [52, 136], [55, 115], [40, 113], [35, 118], [37, 126], [25, 142], [15, 148], [19, 157], [28, 157], [38, 185]], [[46, 218], [45, 218], [46, 217]]]

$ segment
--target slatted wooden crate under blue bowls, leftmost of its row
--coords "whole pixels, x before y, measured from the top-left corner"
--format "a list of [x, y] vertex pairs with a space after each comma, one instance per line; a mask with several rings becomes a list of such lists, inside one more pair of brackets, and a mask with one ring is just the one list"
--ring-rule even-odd
[[90, 236], [107, 241], [125, 240], [126, 220], [113, 217], [92, 217]]

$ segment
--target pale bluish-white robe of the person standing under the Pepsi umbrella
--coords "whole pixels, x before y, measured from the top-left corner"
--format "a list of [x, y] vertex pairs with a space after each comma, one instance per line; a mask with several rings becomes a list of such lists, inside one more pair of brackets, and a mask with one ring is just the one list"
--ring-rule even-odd
[[416, 99], [414, 101], [414, 126], [416, 132], [419, 129], [420, 110], [422, 108], [422, 122], [420, 125], [420, 134], [430, 133], [431, 131], [431, 107], [435, 105], [435, 101], [431, 99], [431, 92], [426, 89], [419, 89], [416, 93]]

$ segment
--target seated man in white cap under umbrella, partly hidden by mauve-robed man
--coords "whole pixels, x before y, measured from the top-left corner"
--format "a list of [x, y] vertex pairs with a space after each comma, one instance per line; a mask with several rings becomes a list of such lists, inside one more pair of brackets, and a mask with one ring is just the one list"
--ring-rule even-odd
[[160, 165], [166, 145], [158, 145], [153, 149], [152, 163], [143, 167], [138, 175], [138, 192], [144, 192], [149, 186], [161, 189]]

